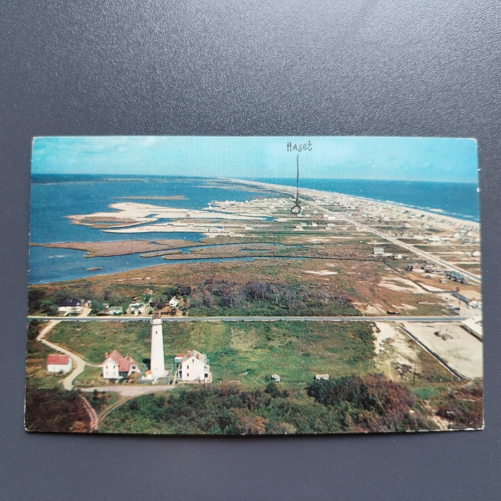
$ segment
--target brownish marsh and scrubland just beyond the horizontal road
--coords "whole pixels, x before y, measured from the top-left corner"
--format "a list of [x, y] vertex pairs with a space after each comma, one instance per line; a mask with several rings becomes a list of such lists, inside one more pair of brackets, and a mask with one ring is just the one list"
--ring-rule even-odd
[[[416, 310], [400, 308], [399, 311], [412, 315], [447, 315], [432, 294], [417, 297], [405, 287], [401, 290], [380, 287], [383, 278], [406, 277], [404, 268], [408, 262], [374, 261], [373, 256], [369, 258], [370, 246], [365, 240], [299, 247], [308, 252], [310, 248], [320, 249], [318, 252], [325, 257], [186, 262], [141, 269], [141, 275], [147, 275], [147, 280], [137, 280], [138, 270], [131, 270], [36, 285], [30, 287], [29, 311], [30, 314], [51, 314], [62, 300], [85, 299], [96, 302], [93, 307], [98, 313], [100, 304], [126, 307], [134, 297], [142, 302], [151, 297], [161, 309], [175, 295], [184, 300], [183, 314], [188, 316], [358, 315], [359, 304], [377, 304], [383, 311], [405, 304]], [[322, 275], [325, 271], [335, 271], [336, 275]], [[424, 304], [418, 304], [418, 300]]]

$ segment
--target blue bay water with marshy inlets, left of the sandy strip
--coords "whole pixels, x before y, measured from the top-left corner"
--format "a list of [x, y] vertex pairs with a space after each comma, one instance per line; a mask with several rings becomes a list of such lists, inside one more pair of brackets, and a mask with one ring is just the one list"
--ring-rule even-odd
[[[211, 200], [249, 200], [259, 193], [211, 187], [206, 179], [185, 177], [132, 177], [88, 175], [33, 176], [31, 185], [30, 241], [33, 243], [179, 238], [198, 241], [202, 233], [107, 233], [73, 224], [68, 215], [112, 212], [118, 202], [201, 209]], [[135, 199], [135, 196], [184, 195], [184, 200]], [[161, 219], [159, 219], [161, 221]], [[30, 247], [30, 284], [44, 284], [166, 264], [161, 257], [138, 254], [85, 258], [75, 249]], [[185, 261], [169, 261], [181, 263]], [[196, 262], [196, 261], [191, 261]], [[88, 271], [87, 268], [102, 268]]]

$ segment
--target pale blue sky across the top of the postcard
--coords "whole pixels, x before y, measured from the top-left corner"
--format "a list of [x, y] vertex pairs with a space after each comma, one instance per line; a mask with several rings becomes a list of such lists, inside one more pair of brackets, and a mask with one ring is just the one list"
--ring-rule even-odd
[[477, 182], [472, 139], [372, 136], [37, 137], [33, 174], [284, 177]]

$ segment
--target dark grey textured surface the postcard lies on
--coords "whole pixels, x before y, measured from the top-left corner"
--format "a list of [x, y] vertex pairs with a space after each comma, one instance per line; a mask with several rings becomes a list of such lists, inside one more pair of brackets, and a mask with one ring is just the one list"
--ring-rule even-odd
[[[0, 499], [497, 498], [499, 2], [4, 0], [0, 9]], [[477, 138], [485, 430], [272, 439], [26, 433], [31, 139], [78, 134]]]

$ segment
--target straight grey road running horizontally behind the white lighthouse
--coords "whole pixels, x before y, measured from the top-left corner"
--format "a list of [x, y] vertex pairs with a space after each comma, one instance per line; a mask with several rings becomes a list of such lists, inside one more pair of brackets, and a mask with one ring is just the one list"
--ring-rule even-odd
[[[403, 317], [387, 315], [381, 317], [165, 317], [163, 322], [461, 322], [467, 317]], [[29, 320], [52, 322], [148, 322], [151, 317], [28, 317]], [[46, 327], [47, 329], [47, 327]], [[52, 327], [51, 327], [52, 329]], [[44, 329], [45, 330], [45, 329]], [[44, 331], [42, 331], [44, 332]], [[52, 345], [57, 346], [57, 345]], [[58, 347], [59, 348], [59, 347]], [[64, 352], [69, 353], [69, 352]], [[70, 355], [73, 355], [69, 353]], [[86, 362], [85, 362], [86, 363]], [[90, 365], [90, 364], [88, 364]]]

